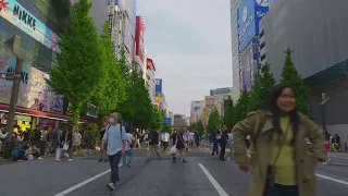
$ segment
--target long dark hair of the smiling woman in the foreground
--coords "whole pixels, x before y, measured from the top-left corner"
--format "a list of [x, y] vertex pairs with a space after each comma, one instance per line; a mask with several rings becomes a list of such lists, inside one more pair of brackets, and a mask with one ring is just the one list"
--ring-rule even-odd
[[[283, 134], [282, 128], [281, 128], [281, 122], [279, 122], [282, 111], [279, 110], [279, 108], [277, 106], [277, 99], [282, 95], [283, 90], [286, 88], [290, 88], [294, 91], [294, 94], [296, 95], [296, 91], [291, 86], [276, 85], [271, 90], [270, 98], [269, 98], [266, 106], [262, 108], [262, 110], [270, 111], [273, 113], [273, 126], [274, 126], [275, 132], [278, 133], [279, 135]], [[299, 124], [300, 124], [300, 117], [299, 117], [296, 108], [294, 108], [294, 110], [289, 112], [289, 118], [290, 118], [290, 123], [291, 123], [293, 132], [294, 132], [291, 145], [294, 145], [296, 142], [296, 137], [297, 137], [297, 133], [298, 133], [298, 128], [299, 128]]]

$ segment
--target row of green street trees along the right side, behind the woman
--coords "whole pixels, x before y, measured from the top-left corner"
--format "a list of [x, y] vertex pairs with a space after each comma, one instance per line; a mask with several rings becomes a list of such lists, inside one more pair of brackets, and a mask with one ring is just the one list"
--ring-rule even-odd
[[[291, 53], [293, 50], [289, 48], [285, 51], [286, 56], [281, 75], [281, 84], [287, 84], [294, 87], [296, 90], [296, 107], [298, 111], [308, 114], [308, 88], [294, 65]], [[243, 91], [235, 105], [233, 100], [228, 98], [223, 118], [219, 115], [217, 111], [213, 111], [209, 117], [206, 130], [211, 132], [222, 123], [226, 124], [228, 130], [232, 130], [233, 126], [244, 120], [249, 112], [257, 111], [266, 105], [270, 90], [274, 85], [275, 79], [270, 72], [270, 64], [266, 63], [262, 66], [261, 74], [254, 75], [252, 89], [249, 93]]]

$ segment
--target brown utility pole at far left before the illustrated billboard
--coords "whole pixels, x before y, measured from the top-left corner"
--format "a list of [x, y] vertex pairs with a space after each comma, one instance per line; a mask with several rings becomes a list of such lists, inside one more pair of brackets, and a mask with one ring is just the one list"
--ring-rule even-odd
[[10, 39], [4, 42], [5, 47], [8, 47], [16, 57], [15, 70], [13, 74], [13, 85], [10, 100], [10, 109], [9, 109], [9, 118], [7, 122], [7, 132], [9, 133], [9, 137], [11, 138], [13, 132], [14, 117], [15, 117], [15, 108], [17, 105], [20, 85], [22, 81], [22, 66], [23, 66], [23, 58], [20, 54], [21, 51], [21, 37], [14, 35]]

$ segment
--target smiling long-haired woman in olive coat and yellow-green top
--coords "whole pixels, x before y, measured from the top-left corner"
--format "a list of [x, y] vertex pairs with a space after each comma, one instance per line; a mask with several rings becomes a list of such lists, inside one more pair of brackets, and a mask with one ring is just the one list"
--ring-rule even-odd
[[[296, 109], [295, 89], [277, 85], [268, 105], [233, 128], [235, 161], [252, 167], [249, 196], [315, 196], [315, 164], [325, 160], [323, 130]], [[251, 135], [251, 159], [246, 136]], [[312, 143], [308, 154], [304, 138]]]

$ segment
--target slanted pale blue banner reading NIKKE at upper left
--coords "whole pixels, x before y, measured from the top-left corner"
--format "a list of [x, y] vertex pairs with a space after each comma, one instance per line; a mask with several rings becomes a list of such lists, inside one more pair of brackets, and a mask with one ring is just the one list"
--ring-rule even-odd
[[0, 3], [0, 16], [47, 48], [54, 52], [60, 51], [57, 44], [59, 37], [15, 0], [4, 0]]

